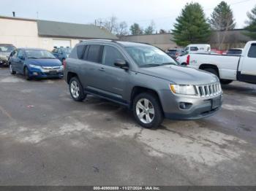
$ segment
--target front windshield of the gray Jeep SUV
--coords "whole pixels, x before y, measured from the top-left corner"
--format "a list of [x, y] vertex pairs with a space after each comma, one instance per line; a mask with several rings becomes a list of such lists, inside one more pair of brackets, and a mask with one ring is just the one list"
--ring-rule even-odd
[[176, 61], [170, 58], [162, 50], [157, 47], [141, 46], [141, 47], [125, 47], [129, 55], [135, 63], [140, 67], [154, 67], [163, 65], [176, 65]]

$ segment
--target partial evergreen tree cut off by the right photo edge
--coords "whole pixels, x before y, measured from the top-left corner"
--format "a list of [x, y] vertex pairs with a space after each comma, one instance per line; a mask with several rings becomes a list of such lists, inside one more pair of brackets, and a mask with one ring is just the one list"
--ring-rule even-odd
[[252, 39], [256, 39], [256, 5], [252, 9], [252, 12], [247, 12], [247, 16], [249, 20], [246, 21], [248, 26], [246, 26], [246, 32], [245, 34]]

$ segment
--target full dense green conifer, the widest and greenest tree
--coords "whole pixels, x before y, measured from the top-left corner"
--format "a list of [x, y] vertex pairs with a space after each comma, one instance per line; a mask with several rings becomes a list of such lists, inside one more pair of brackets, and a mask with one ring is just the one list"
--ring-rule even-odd
[[198, 3], [186, 4], [174, 23], [173, 38], [179, 46], [205, 43], [211, 35], [203, 8]]

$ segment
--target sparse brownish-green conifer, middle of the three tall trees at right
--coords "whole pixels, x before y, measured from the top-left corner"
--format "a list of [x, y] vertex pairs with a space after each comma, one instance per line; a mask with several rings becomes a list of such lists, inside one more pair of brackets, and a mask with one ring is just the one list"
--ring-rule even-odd
[[228, 31], [235, 28], [236, 23], [233, 18], [233, 12], [225, 1], [221, 1], [214, 8], [209, 23], [211, 24], [211, 28], [217, 31]]

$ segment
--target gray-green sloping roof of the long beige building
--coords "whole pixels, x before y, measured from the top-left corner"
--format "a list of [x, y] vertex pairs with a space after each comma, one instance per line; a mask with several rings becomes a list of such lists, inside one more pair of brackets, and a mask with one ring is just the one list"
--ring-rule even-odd
[[37, 20], [39, 36], [56, 36], [77, 39], [118, 39], [105, 28], [94, 25], [62, 23], [48, 20]]

